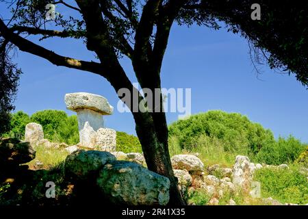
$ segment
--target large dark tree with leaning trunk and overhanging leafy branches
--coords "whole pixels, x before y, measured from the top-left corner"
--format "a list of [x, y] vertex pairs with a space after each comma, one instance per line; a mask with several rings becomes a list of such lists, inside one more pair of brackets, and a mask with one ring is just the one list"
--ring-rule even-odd
[[[307, 3], [285, 0], [275, 5], [265, 0], [259, 2], [261, 21], [251, 19], [251, 5], [255, 2], [248, 0], [75, 0], [73, 3], [14, 0], [10, 5], [13, 16], [6, 24], [0, 20], [0, 32], [3, 39], [21, 51], [38, 55], [57, 66], [101, 75], [116, 91], [126, 88], [131, 93], [138, 93], [140, 103], [146, 101], [146, 97], [129, 81], [120, 66], [120, 57], [125, 55], [131, 60], [142, 89], [148, 88], [155, 93], [155, 88], [161, 88], [160, 70], [172, 24], [175, 21], [186, 25], [197, 23], [218, 29], [216, 21], [224, 21], [231, 31], [241, 32], [251, 40], [253, 46], [261, 50], [262, 57], [268, 58], [272, 68], [290, 70], [307, 86]], [[62, 5], [77, 16], [59, 15], [53, 21], [46, 21], [45, 6], [48, 3]], [[285, 11], [290, 11], [292, 16], [283, 14]], [[53, 16], [52, 9], [49, 12]], [[47, 22], [60, 30], [45, 29]], [[40, 35], [41, 40], [50, 37], [83, 39], [86, 48], [97, 55], [97, 62], [64, 57], [31, 42], [27, 35]], [[168, 127], [161, 93], [159, 100], [154, 107], [160, 112], [131, 111], [149, 170], [170, 179], [170, 203], [182, 205], [168, 152]], [[132, 101], [125, 103], [129, 109], [136, 106]]]

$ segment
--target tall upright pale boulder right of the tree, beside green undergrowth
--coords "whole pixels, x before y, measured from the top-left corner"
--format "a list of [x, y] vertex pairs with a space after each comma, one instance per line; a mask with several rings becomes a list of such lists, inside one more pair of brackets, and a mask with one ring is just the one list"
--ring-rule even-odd
[[233, 166], [233, 184], [248, 190], [251, 186], [255, 169], [255, 164], [251, 163], [248, 157], [238, 155]]

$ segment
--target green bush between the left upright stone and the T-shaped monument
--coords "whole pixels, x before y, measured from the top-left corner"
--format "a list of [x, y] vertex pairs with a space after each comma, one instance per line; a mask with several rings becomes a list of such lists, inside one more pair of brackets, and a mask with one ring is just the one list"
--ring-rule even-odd
[[36, 112], [31, 116], [31, 121], [42, 125], [44, 137], [48, 140], [53, 140], [60, 124], [67, 119], [66, 112], [60, 110], [43, 110]]

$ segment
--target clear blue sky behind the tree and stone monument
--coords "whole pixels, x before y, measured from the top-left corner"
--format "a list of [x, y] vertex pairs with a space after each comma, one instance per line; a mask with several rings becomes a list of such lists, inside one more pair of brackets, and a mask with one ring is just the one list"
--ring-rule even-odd
[[[94, 60], [77, 40], [49, 39], [40, 42], [62, 55]], [[23, 69], [16, 99], [16, 110], [33, 114], [38, 110], [66, 110], [64, 95], [91, 92], [105, 96], [116, 108], [118, 97], [103, 77], [79, 70], [53, 66], [39, 57], [18, 52], [16, 62]], [[121, 60], [133, 82], [128, 60]], [[259, 79], [248, 54], [248, 44], [225, 29], [206, 27], [172, 28], [162, 66], [164, 88], [192, 88], [192, 114], [208, 110], [240, 112], [271, 129], [275, 137], [294, 135], [308, 142], [308, 90], [293, 75], [279, 75], [261, 66]], [[168, 113], [168, 123], [177, 120]], [[105, 117], [105, 125], [135, 134], [131, 114]]]

